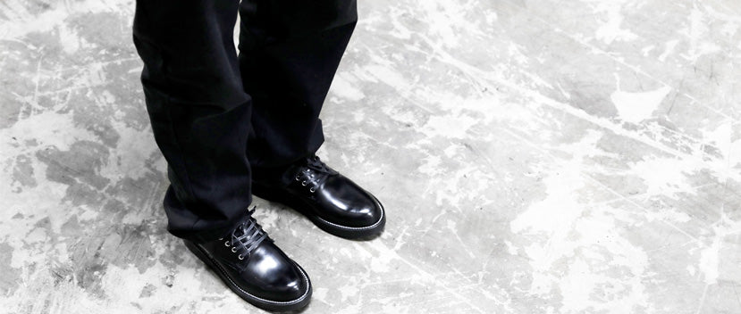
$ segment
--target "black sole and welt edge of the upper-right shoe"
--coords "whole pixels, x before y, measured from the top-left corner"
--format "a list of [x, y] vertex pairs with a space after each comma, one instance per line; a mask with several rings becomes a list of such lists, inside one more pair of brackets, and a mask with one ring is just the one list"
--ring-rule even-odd
[[[366, 192], [367, 193], [367, 192]], [[312, 213], [312, 209], [309, 205], [307, 205], [305, 202], [303, 202], [301, 199], [299, 199], [296, 196], [293, 196], [288, 193], [276, 193], [271, 192], [269, 188], [266, 188], [265, 186], [261, 186], [259, 184], [256, 184], [253, 182], [252, 184], [252, 194], [254, 194], [257, 197], [260, 197], [262, 199], [265, 199], [270, 202], [279, 202], [282, 203], [294, 211], [298, 211], [300, 214], [307, 217], [307, 219], [311, 220], [316, 227], [319, 227], [320, 229], [324, 230], [325, 232], [334, 235], [334, 236], [340, 236], [346, 239], [351, 240], [365, 240], [365, 239], [372, 239], [375, 236], [378, 236], [383, 232], [383, 228], [386, 225], [386, 211], [383, 209], [383, 204], [381, 202], [378, 202], [378, 199], [375, 198], [375, 195], [367, 193], [373, 198], [373, 201], [378, 204], [378, 208], [381, 209], [381, 218], [378, 219], [373, 225], [366, 226], [366, 227], [349, 227], [349, 226], [342, 226], [335, 224], [331, 221], [327, 221], [325, 219], [322, 219], [318, 215]]]

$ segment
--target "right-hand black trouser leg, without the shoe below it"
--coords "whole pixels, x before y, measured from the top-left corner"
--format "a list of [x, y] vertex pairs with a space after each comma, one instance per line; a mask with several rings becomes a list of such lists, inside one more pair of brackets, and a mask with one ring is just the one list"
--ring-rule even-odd
[[240, 69], [254, 98], [248, 159], [256, 178], [315, 153], [319, 112], [348, 45], [355, 0], [243, 0]]

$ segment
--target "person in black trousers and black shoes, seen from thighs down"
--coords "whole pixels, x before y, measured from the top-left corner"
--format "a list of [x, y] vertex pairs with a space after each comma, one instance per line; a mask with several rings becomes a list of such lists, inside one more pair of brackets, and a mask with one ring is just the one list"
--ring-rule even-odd
[[312, 287], [248, 211], [252, 194], [335, 236], [374, 237], [385, 225], [375, 196], [316, 156], [319, 112], [357, 21], [355, 0], [136, 4], [141, 83], [170, 181], [168, 230], [265, 310], [303, 308]]

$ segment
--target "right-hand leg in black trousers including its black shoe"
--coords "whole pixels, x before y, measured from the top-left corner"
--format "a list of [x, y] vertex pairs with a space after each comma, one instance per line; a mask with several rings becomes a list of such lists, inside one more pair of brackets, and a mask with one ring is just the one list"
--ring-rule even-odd
[[319, 112], [358, 21], [355, 0], [243, 0], [240, 69], [254, 100], [252, 193], [285, 203], [336, 236], [383, 230], [375, 196], [314, 155]]

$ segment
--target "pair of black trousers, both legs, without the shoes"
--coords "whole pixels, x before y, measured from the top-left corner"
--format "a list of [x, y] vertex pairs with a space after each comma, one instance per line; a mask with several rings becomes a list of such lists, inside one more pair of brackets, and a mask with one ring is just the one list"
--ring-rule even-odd
[[252, 179], [322, 145], [319, 111], [357, 20], [355, 0], [137, 1], [134, 44], [174, 236], [224, 236], [252, 201]]

